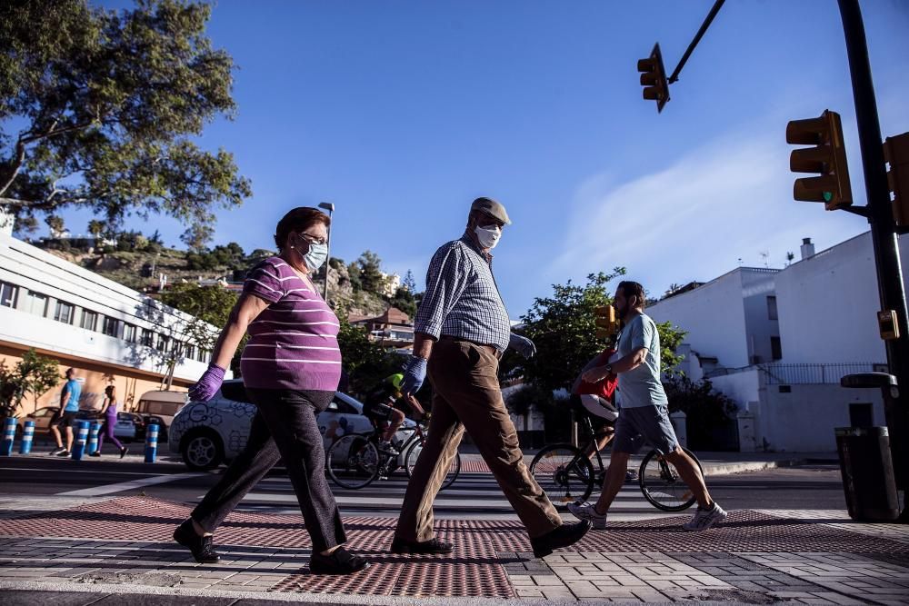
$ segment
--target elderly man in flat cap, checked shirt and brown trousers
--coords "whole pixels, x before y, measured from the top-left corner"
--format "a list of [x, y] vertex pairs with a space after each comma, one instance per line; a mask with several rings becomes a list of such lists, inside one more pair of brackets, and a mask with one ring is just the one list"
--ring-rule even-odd
[[402, 391], [420, 389], [426, 374], [433, 384], [433, 416], [423, 452], [411, 475], [392, 551], [449, 553], [451, 543], [433, 532], [433, 502], [464, 430], [511, 502], [534, 555], [579, 541], [587, 521], [563, 524], [549, 497], [524, 464], [517, 432], [502, 400], [499, 358], [509, 346], [529, 358], [534, 343], [511, 333], [511, 323], [493, 277], [489, 253], [510, 224], [504, 206], [489, 198], [471, 204], [467, 229], [443, 244], [426, 273], [426, 290], [415, 320], [414, 355], [405, 366]]

